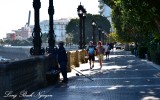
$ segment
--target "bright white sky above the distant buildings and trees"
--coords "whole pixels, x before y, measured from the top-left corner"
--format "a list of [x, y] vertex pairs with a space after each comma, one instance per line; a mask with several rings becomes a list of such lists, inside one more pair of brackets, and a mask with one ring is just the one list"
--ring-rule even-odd
[[[49, 0], [40, 0], [40, 21], [48, 20]], [[80, 4], [87, 13], [98, 14], [98, 0], [53, 0], [54, 19], [75, 18]], [[28, 13], [31, 10], [30, 25], [34, 24], [33, 0], [0, 0], [0, 39], [6, 37], [6, 33], [20, 29], [28, 22]]]

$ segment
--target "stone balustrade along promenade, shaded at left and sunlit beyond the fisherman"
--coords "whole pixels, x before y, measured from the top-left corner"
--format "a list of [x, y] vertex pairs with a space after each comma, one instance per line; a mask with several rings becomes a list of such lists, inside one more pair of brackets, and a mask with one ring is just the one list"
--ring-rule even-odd
[[[68, 72], [71, 66], [79, 67], [85, 63], [85, 50], [68, 51]], [[53, 66], [58, 66], [57, 60], [53, 59]], [[0, 100], [5, 98], [7, 91], [18, 94], [23, 90], [33, 92], [38, 88], [47, 86], [46, 73], [51, 65], [48, 56], [35, 56], [18, 61], [7, 61], [0, 63]]]

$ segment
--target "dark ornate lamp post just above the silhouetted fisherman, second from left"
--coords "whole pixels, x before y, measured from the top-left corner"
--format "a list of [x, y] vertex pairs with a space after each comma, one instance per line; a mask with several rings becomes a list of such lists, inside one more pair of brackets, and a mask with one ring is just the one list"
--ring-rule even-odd
[[55, 34], [54, 34], [54, 25], [53, 25], [53, 15], [54, 15], [54, 6], [53, 0], [49, 0], [49, 33], [48, 33], [48, 47], [46, 48], [47, 53], [56, 53], [55, 48]]

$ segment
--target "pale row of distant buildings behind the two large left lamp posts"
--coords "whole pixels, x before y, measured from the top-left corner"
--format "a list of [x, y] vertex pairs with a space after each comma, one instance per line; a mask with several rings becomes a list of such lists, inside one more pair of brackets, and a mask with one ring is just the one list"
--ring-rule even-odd
[[[54, 20], [54, 33], [56, 37], [56, 42], [64, 41], [66, 42], [66, 25], [68, 24], [69, 19], [59, 19]], [[40, 22], [40, 28], [42, 34], [49, 33], [49, 20], [43, 20]], [[34, 25], [30, 27], [22, 27], [18, 30], [12, 30], [13, 33], [7, 33], [6, 39], [9, 40], [26, 40], [32, 36]]]

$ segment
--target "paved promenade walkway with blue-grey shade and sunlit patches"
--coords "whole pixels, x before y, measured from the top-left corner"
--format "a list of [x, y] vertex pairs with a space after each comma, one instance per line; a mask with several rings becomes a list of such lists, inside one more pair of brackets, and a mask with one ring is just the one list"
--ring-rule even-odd
[[48, 86], [24, 100], [160, 100], [160, 66], [117, 50], [99, 67], [96, 61], [92, 70], [88, 63], [76, 68], [93, 81], [72, 70], [67, 85]]

